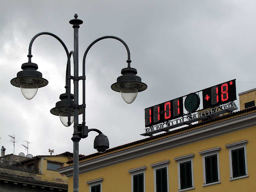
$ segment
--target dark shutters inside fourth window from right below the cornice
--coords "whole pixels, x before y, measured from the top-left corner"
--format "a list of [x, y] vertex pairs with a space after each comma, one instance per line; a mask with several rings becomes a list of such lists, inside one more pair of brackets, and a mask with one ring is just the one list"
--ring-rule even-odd
[[167, 169], [156, 170], [156, 192], [167, 192]]

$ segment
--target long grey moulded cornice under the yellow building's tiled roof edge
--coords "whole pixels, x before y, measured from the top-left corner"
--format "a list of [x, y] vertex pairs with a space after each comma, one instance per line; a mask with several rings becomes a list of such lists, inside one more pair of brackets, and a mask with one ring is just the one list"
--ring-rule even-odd
[[[172, 148], [177, 148], [192, 142], [210, 138], [212, 136], [226, 134], [254, 125], [256, 125], [256, 113], [244, 114], [242, 116], [230, 118], [228, 120], [202, 126], [200, 128], [194, 128], [192, 130], [187, 130], [176, 135], [166, 136], [165, 138], [160, 138], [145, 144], [140, 144], [128, 149], [120, 150], [118, 152], [113, 152], [98, 158], [80, 162], [79, 173], [96, 170], [120, 162], [132, 160], [134, 158], [155, 154]], [[72, 176], [73, 166], [64, 167], [58, 170], [58, 172], [65, 174], [66, 176]]]

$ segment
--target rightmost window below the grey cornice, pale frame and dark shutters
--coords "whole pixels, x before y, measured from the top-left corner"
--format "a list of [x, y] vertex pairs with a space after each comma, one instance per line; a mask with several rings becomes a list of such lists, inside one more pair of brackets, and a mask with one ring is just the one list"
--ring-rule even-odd
[[247, 140], [225, 145], [229, 151], [230, 180], [248, 177]]

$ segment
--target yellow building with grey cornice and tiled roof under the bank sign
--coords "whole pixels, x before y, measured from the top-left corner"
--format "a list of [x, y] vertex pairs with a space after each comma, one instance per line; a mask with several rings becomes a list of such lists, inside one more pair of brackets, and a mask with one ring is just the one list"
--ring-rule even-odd
[[[250, 100], [250, 99], [249, 99]], [[242, 104], [240, 104], [241, 107]], [[80, 158], [80, 192], [255, 191], [256, 107]], [[73, 190], [73, 168], [61, 168]]]

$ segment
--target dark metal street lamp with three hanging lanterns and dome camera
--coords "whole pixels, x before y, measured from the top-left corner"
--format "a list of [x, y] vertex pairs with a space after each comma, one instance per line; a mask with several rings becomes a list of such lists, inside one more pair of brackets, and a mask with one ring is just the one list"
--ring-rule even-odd
[[[65, 126], [70, 126], [72, 124], [72, 119], [74, 119], [74, 134], [71, 138], [73, 141], [73, 191], [78, 192], [78, 162], [79, 162], [79, 141], [81, 138], [86, 138], [88, 136], [88, 132], [96, 131], [99, 133], [94, 140], [94, 148], [98, 150], [98, 152], [105, 152], [106, 149], [109, 148], [108, 138], [102, 134], [97, 129], [88, 129], [88, 126], [85, 125], [85, 59], [90, 48], [98, 41], [112, 38], [120, 41], [126, 48], [128, 59], [127, 68], [123, 68], [121, 70], [122, 76], [117, 78], [117, 82], [112, 84], [112, 90], [116, 92], [121, 92], [122, 98], [126, 103], [132, 103], [138, 92], [144, 91], [147, 88], [147, 85], [141, 81], [139, 76], [136, 76], [137, 70], [135, 68], [131, 68], [130, 63], [130, 50], [127, 44], [120, 38], [115, 36], [103, 36], [101, 38], [96, 39], [92, 42], [88, 48], [86, 49], [83, 57], [82, 63], [82, 76], [78, 76], [78, 28], [79, 25], [83, 23], [82, 20], [78, 19], [77, 14], [74, 15], [74, 19], [69, 22], [72, 24], [74, 28], [74, 51], [68, 52], [68, 49], [64, 42], [55, 34], [49, 32], [41, 32], [36, 34], [32, 40], [30, 41], [30, 45], [28, 48], [28, 62], [22, 64], [22, 71], [17, 73], [17, 77], [11, 80], [11, 84], [16, 87], [20, 87], [22, 94], [27, 99], [32, 99], [38, 90], [38, 88], [44, 87], [48, 84], [48, 81], [42, 78], [42, 73], [37, 71], [38, 65], [31, 62], [32, 54], [31, 48], [34, 40], [41, 35], [50, 35], [56, 38], [64, 47], [66, 55], [67, 55], [67, 66], [66, 66], [66, 92], [60, 95], [60, 101], [56, 103], [55, 108], [52, 108], [50, 111], [54, 115], [60, 116], [60, 120]], [[74, 60], [74, 76], [71, 76], [70, 72], [70, 57], [73, 56]], [[74, 82], [74, 94], [70, 92], [70, 81]], [[78, 104], [78, 81], [83, 81], [83, 103], [82, 105]], [[83, 114], [82, 124], [78, 123], [78, 115]]]

